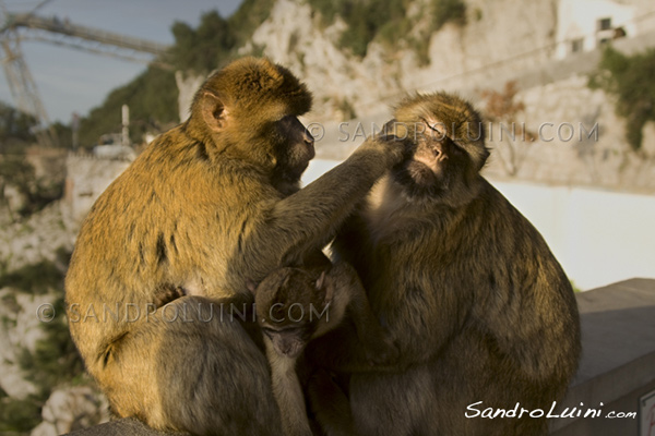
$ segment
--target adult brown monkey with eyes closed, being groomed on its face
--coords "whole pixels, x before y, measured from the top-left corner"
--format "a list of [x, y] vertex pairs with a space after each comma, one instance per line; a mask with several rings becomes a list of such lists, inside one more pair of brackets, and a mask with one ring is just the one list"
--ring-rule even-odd
[[417, 95], [395, 119], [413, 155], [376, 185], [334, 252], [358, 271], [401, 358], [371, 368], [345, 328], [308, 353], [352, 374], [358, 434], [544, 435], [545, 417], [481, 411], [520, 403], [547, 413], [562, 398], [580, 355], [571, 284], [537, 230], [479, 174], [489, 152], [468, 102]]

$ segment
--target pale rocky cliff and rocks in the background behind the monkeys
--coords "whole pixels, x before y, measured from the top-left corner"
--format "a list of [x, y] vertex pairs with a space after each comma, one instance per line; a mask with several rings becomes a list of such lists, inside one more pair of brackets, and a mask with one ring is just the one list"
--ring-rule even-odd
[[[417, 50], [416, 44], [401, 40], [390, 45], [373, 38], [366, 55], [359, 57], [343, 47], [341, 38], [348, 24], [338, 15], [326, 22], [309, 0], [275, 0], [240, 53], [265, 55], [308, 84], [315, 104], [305, 121], [321, 124], [319, 158], [345, 158], [362, 141], [356, 135], [358, 126], [365, 134], [371, 133], [372, 125], [389, 119], [390, 105], [407, 93], [457, 92], [486, 109], [484, 90], [501, 92], [514, 82], [512, 98], [523, 110], [512, 119], [489, 121], [488, 144], [493, 150], [488, 175], [655, 192], [655, 125], [644, 129], [642, 153], [631, 153], [612, 97], [586, 85], [599, 52], [555, 59], [558, 44], [562, 44], [556, 40], [559, 3], [466, 0], [464, 20], [428, 32], [434, 19], [432, 1], [416, 0], [407, 8], [406, 19], [412, 23], [407, 40], [418, 41], [424, 51]], [[618, 3], [633, 7], [638, 16], [647, 15], [652, 8], [647, 0]], [[642, 27], [638, 37], [617, 41], [617, 47], [634, 52], [655, 46], [653, 34]], [[201, 78], [180, 73], [177, 80], [183, 119]], [[524, 125], [533, 137], [508, 140], [512, 123]], [[349, 134], [347, 140], [342, 132]], [[34, 425], [43, 414], [44, 423], [34, 432], [39, 436], [106, 417], [105, 405], [93, 390], [73, 386], [70, 379], [37, 377], [26, 367], [36, 364], [35, 356], [44, 356], [39, 354], [44, 341], [52, 342], [53, 330], [43, 328], [38, 308], [44, 304], [59, 307], [66, 263], [57, 253], [70, 253], [86, 210], [127, 165], [69, 156], [66, 199], [0, 229], [0, 433], [17, 428], [3, 427], [2, 419], [11, 416], [2, 410], [21, 410], [24, 404], [37, 414], [31, 415]], [[40, 283], [39, 291], [34, 281], [23, 280], [44, 276], [46, 269], [51, 280]], [[58, 318], [49, 326], [63, 326], [63, 322]], [[68, 367], [58, 361], [60, 356], [50, 355], [51, 365]], [[88, 380], [82, 378], [81, 383]]]

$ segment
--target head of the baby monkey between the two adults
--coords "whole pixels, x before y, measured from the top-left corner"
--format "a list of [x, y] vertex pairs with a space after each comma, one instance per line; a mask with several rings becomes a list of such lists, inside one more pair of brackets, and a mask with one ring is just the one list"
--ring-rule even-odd
[[284, 267], [248, 288], [254, 294], [258, 323], [277, 354], [297, 358], [317, 330], [318, 314], [332, 300], [325, 270], [317, 278], [306, 269]]

